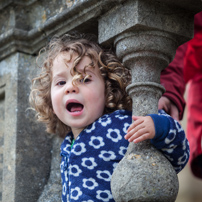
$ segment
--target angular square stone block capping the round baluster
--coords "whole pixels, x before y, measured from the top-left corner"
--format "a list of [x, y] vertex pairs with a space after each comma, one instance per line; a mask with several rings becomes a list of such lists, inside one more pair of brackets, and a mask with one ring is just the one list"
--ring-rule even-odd
[[117, 35], [129, 32], [131, 28], [170, 32], [176, 34], [176, 39], [179, 40], [177, 43], [184, 43], [193, 35], [193, 13], [181, 5], [176, 7], [165, 1], [126, 1], [101, 16], [99, 41], [106, 43], [114, 40]]

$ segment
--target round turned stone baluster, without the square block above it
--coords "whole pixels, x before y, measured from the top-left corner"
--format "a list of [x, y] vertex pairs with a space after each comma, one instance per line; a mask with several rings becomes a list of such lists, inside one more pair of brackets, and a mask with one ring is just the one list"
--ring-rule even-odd
[[[175, 44], [172, 36], [161, 31], [133, 31], [115, 39], [117, 55], [132, 72], [127, 91], [133, 99], [134, 115], [158, 112], [157, 103], [164, 92], [160, 72], [168, 65]], [[111, 181], [116, 202], [175, 201], [178, 186], [171, 164], [149, 140], [130, 143]]]

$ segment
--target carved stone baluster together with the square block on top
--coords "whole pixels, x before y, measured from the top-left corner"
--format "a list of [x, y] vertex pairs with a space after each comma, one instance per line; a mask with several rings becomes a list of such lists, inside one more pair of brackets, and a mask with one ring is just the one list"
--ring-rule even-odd
[[[178, 3], [129, 0], [99, 21], [100, 42], [113, 40], [117, 56], [131, 69], [127, 91], [134, 115], [157, 113], [164, 92], [160, 73], [192, 36], [194, 15]], [[116, 202], [173, 202], [178, 187], [173, 167], [150, 141], [130, 143], [111, 180]]]

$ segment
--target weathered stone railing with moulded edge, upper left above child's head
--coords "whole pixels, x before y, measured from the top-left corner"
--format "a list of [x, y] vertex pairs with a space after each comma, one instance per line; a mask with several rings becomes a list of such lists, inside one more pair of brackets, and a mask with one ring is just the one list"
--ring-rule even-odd
[[98, 18], [123, 1], [1, 0], [0, 59], [16, 51], [37, 54], [55, 34], [72, 30], [97, 34]]

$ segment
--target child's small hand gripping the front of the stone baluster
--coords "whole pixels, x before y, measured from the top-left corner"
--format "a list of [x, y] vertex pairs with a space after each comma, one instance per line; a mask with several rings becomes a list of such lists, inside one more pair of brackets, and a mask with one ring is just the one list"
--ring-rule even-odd
[[132, 116], [134, 122], [130, 125], [125, 135], [129, 142], [142, 142], [155, 137], [155, 126], [150, 116]]

